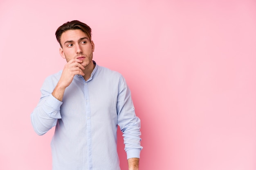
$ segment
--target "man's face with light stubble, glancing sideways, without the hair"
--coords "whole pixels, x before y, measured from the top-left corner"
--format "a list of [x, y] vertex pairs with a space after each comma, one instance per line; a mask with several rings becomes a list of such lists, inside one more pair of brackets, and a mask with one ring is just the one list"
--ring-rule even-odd
[[83, 31], [68, 30], [61, 35], [60, 54], [68, 61], [70, 59], [80, 59], [84, 67], [92, 62], [92, 52], [94, 52], [94, 43]]

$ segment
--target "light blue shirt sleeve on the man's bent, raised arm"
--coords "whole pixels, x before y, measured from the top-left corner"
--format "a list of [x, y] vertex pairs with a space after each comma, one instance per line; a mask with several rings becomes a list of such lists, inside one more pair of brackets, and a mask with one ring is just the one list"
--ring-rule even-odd
[[54, 85], [46, 79], [41, 88], [41, 98], [31, 113], [31, 123], [38, 135], [43, 135], [56, 126], [61, 119], [60, 107], [62, 102], [52, 96]]

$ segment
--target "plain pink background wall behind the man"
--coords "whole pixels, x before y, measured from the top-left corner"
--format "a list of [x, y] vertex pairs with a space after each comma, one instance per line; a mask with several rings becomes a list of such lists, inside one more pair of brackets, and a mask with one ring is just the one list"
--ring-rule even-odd
[[0, 170], [52, 167], [54, 131], [36, 135], [30, 113], [65, 64], [54, 33], [70, 20], [91, 26], [94, 60], [126, 78], [140, 170], [256, 169], [255, 0], [1, 0]]

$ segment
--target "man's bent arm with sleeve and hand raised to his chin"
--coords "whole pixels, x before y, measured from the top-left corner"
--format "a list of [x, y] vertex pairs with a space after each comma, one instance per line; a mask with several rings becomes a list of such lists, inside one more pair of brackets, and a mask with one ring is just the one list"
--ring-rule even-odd
[[[31, 123], [38, 135], [43, 135], [61, 119], [60, 107], [66, 87], [72, 82], [74, 75], [84, 75], [84, 67], [78, 59], [70, 60], [64, 67], [61, 78], [56, 87], [52, 87], [52, 80], [46, 80], [41, 89], [41, 98], [31, 113]], [[54, 89], [52, 91], [52, 89]]]

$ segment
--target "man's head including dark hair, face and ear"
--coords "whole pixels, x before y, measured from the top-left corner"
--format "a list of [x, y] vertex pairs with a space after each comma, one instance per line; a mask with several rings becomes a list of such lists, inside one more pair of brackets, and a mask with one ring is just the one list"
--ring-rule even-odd
[[[91, 40], [91, 28], [77, 20], [60, 26], [56, 38], [61, 45], [59, 52], [67, 62], [80, 60], [85, 68], [93, 68], [94, 42]], [[89, 66], [89, 67], [88, 67]]]

